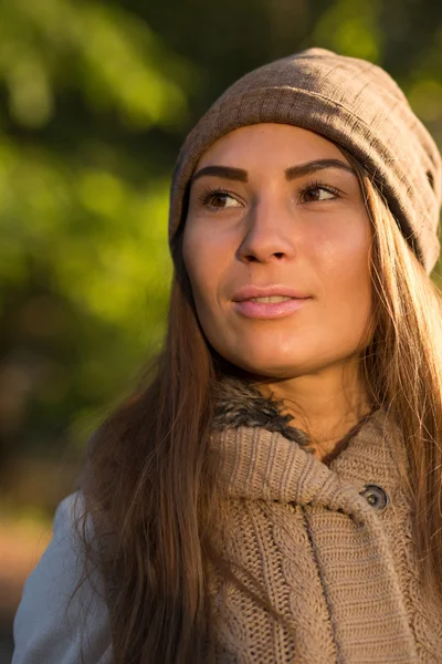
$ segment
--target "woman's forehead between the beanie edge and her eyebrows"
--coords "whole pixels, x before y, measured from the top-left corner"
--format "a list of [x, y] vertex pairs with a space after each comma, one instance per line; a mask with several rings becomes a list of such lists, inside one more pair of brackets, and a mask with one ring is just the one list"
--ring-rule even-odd
[[225, 134], [201, 156], [197, 169], [212, 164], [292, 166], [318, 158], [347, 159], [340, 149], [308, 129], [287, 124], [261, 123]]

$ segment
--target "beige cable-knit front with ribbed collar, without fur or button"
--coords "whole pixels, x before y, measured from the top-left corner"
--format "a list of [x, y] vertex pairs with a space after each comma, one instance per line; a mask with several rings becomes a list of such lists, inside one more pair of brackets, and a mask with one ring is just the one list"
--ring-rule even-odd
[[[213, 578], [220, 663], [442, 662], [442, 610], [421, 590], [398, 436], [377, 411], [327, 467], [281, 433], [213, 433], [220, 552], [286, 621]], [[385, 511], [360, 495], [366, 485], [387, 494]]]

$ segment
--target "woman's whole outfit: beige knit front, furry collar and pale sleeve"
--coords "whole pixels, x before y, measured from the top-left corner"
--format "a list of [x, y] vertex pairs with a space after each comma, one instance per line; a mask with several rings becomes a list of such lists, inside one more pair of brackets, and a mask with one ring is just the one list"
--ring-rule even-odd
[[[219, 664], [442, 663], [442, 609], [419, 580], [401, 439], [381, 408], [326, 466], [277, 404], [223, 385], [210, 446], [224, 508], [214, 541], [245, 590], [218, 572], [210, 581]], [[60, 506], [27, 582], [13, 664], [77, 664], [84, 644], [85, 664], [112, 663], [101, 579], [64, 618], [82, 568], [74, 502]]]

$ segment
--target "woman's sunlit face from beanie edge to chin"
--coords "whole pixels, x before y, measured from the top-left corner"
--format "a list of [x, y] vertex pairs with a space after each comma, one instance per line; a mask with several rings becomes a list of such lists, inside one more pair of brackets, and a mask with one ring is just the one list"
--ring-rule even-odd
[[365, 347], [370, 222], [330, 142], [283, 124], [241, 127], [201, 157], [183, 258], [210, 344], [255, 375], [291, 378]]

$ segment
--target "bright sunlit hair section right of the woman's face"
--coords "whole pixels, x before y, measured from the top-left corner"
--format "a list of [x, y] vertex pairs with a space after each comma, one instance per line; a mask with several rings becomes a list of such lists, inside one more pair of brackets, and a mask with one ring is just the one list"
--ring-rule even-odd
[[413, 541], [427, 592], [442, 600], [442, 298], [361, 167], [373, 226], [375, 335], [362, 357], [372, 400], [398, 423], [399, 470], [412, 497]]

